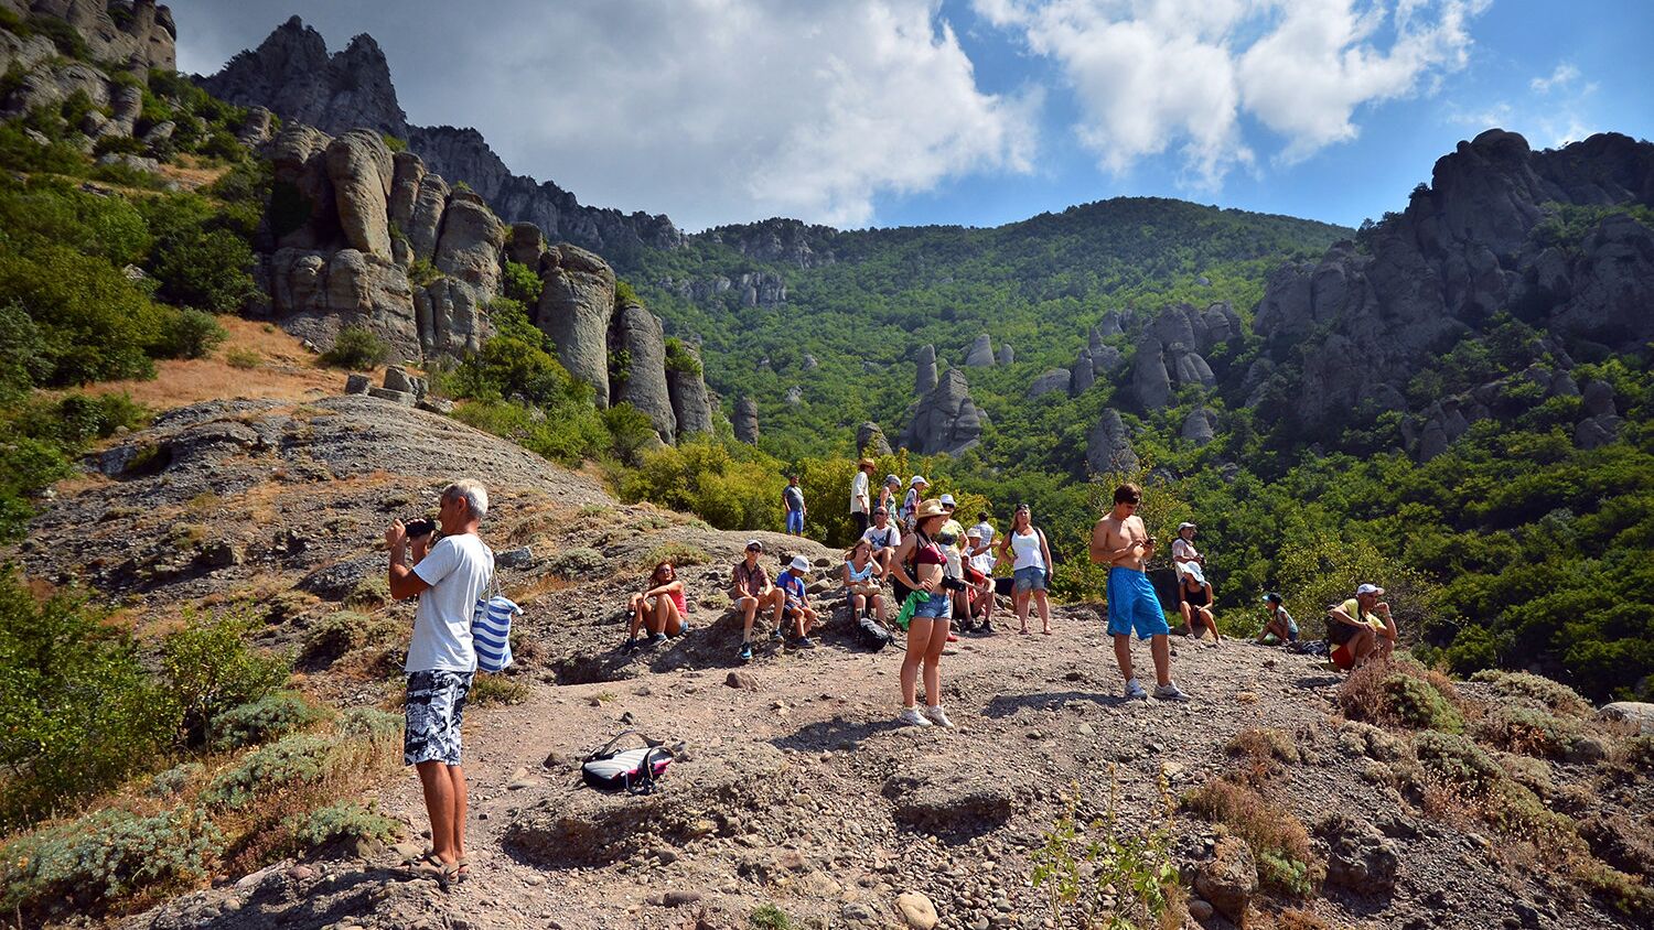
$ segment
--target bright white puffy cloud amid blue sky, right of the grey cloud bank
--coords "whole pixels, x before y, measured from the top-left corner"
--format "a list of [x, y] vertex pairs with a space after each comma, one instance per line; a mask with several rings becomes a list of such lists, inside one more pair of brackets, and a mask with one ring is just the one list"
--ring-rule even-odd
[[974, 0], [1073, 86], [1075, 127], [1120, 172], [1178, 147], [1194, 187], [1254, 160], [1249, 117], [1302, 160], [1355, 139], [1365, 104], [1464, 68], [1487, 0]]

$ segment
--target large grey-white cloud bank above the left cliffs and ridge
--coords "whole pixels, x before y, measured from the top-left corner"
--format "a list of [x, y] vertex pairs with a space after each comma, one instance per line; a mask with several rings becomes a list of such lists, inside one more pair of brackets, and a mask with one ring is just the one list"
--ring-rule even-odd
[[[280, 23], [253, 0], [172, 7], [180, 58], [205, 71]], [[288, 12], [332, 50], [370, 31], [412, 122], [475, 126], [518, 173], [686, 228], [772, 215], [865, 225], [883, 193], [1027, 172], [1037, 142], [1039, 93], [984, 93], [939, 0], [289, 0]], [[215, 61], [200, 64], [202, 41]]]

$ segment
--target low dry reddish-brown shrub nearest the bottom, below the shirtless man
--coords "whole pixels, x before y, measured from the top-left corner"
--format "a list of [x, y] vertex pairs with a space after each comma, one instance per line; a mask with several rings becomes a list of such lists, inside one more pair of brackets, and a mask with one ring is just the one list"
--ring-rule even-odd
[[1292, 811], [1245, 785], [1212, 780], [1184, 796], [1196, 814], [1227, 826], [1245, 841], [1259, 864], [1259, 880], [1277, 890], [1305, 895], [1322, 884], [1325, 864], [1310, 847], [1310, 834]]

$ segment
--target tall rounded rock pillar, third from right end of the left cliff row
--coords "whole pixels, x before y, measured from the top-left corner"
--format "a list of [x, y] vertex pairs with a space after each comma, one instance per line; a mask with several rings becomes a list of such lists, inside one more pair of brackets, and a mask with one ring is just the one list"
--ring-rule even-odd
[[597, 408], [607, 408], [614, 269], [595, 254], [562, 243], [546, 251], [541, 281], [544, 289], [534, 309], [534, 324], [557, 347], [562, 367], [592, 385]]

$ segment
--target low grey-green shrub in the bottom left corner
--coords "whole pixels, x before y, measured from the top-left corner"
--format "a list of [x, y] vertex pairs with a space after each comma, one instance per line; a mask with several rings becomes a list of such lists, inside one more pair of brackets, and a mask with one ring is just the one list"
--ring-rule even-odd
[[223, 833], [200, 809], [139, 816], [106, 809], [43, 829], [0, 852], [0, 909], [98, 909], [137, 890], [203, 879]]

